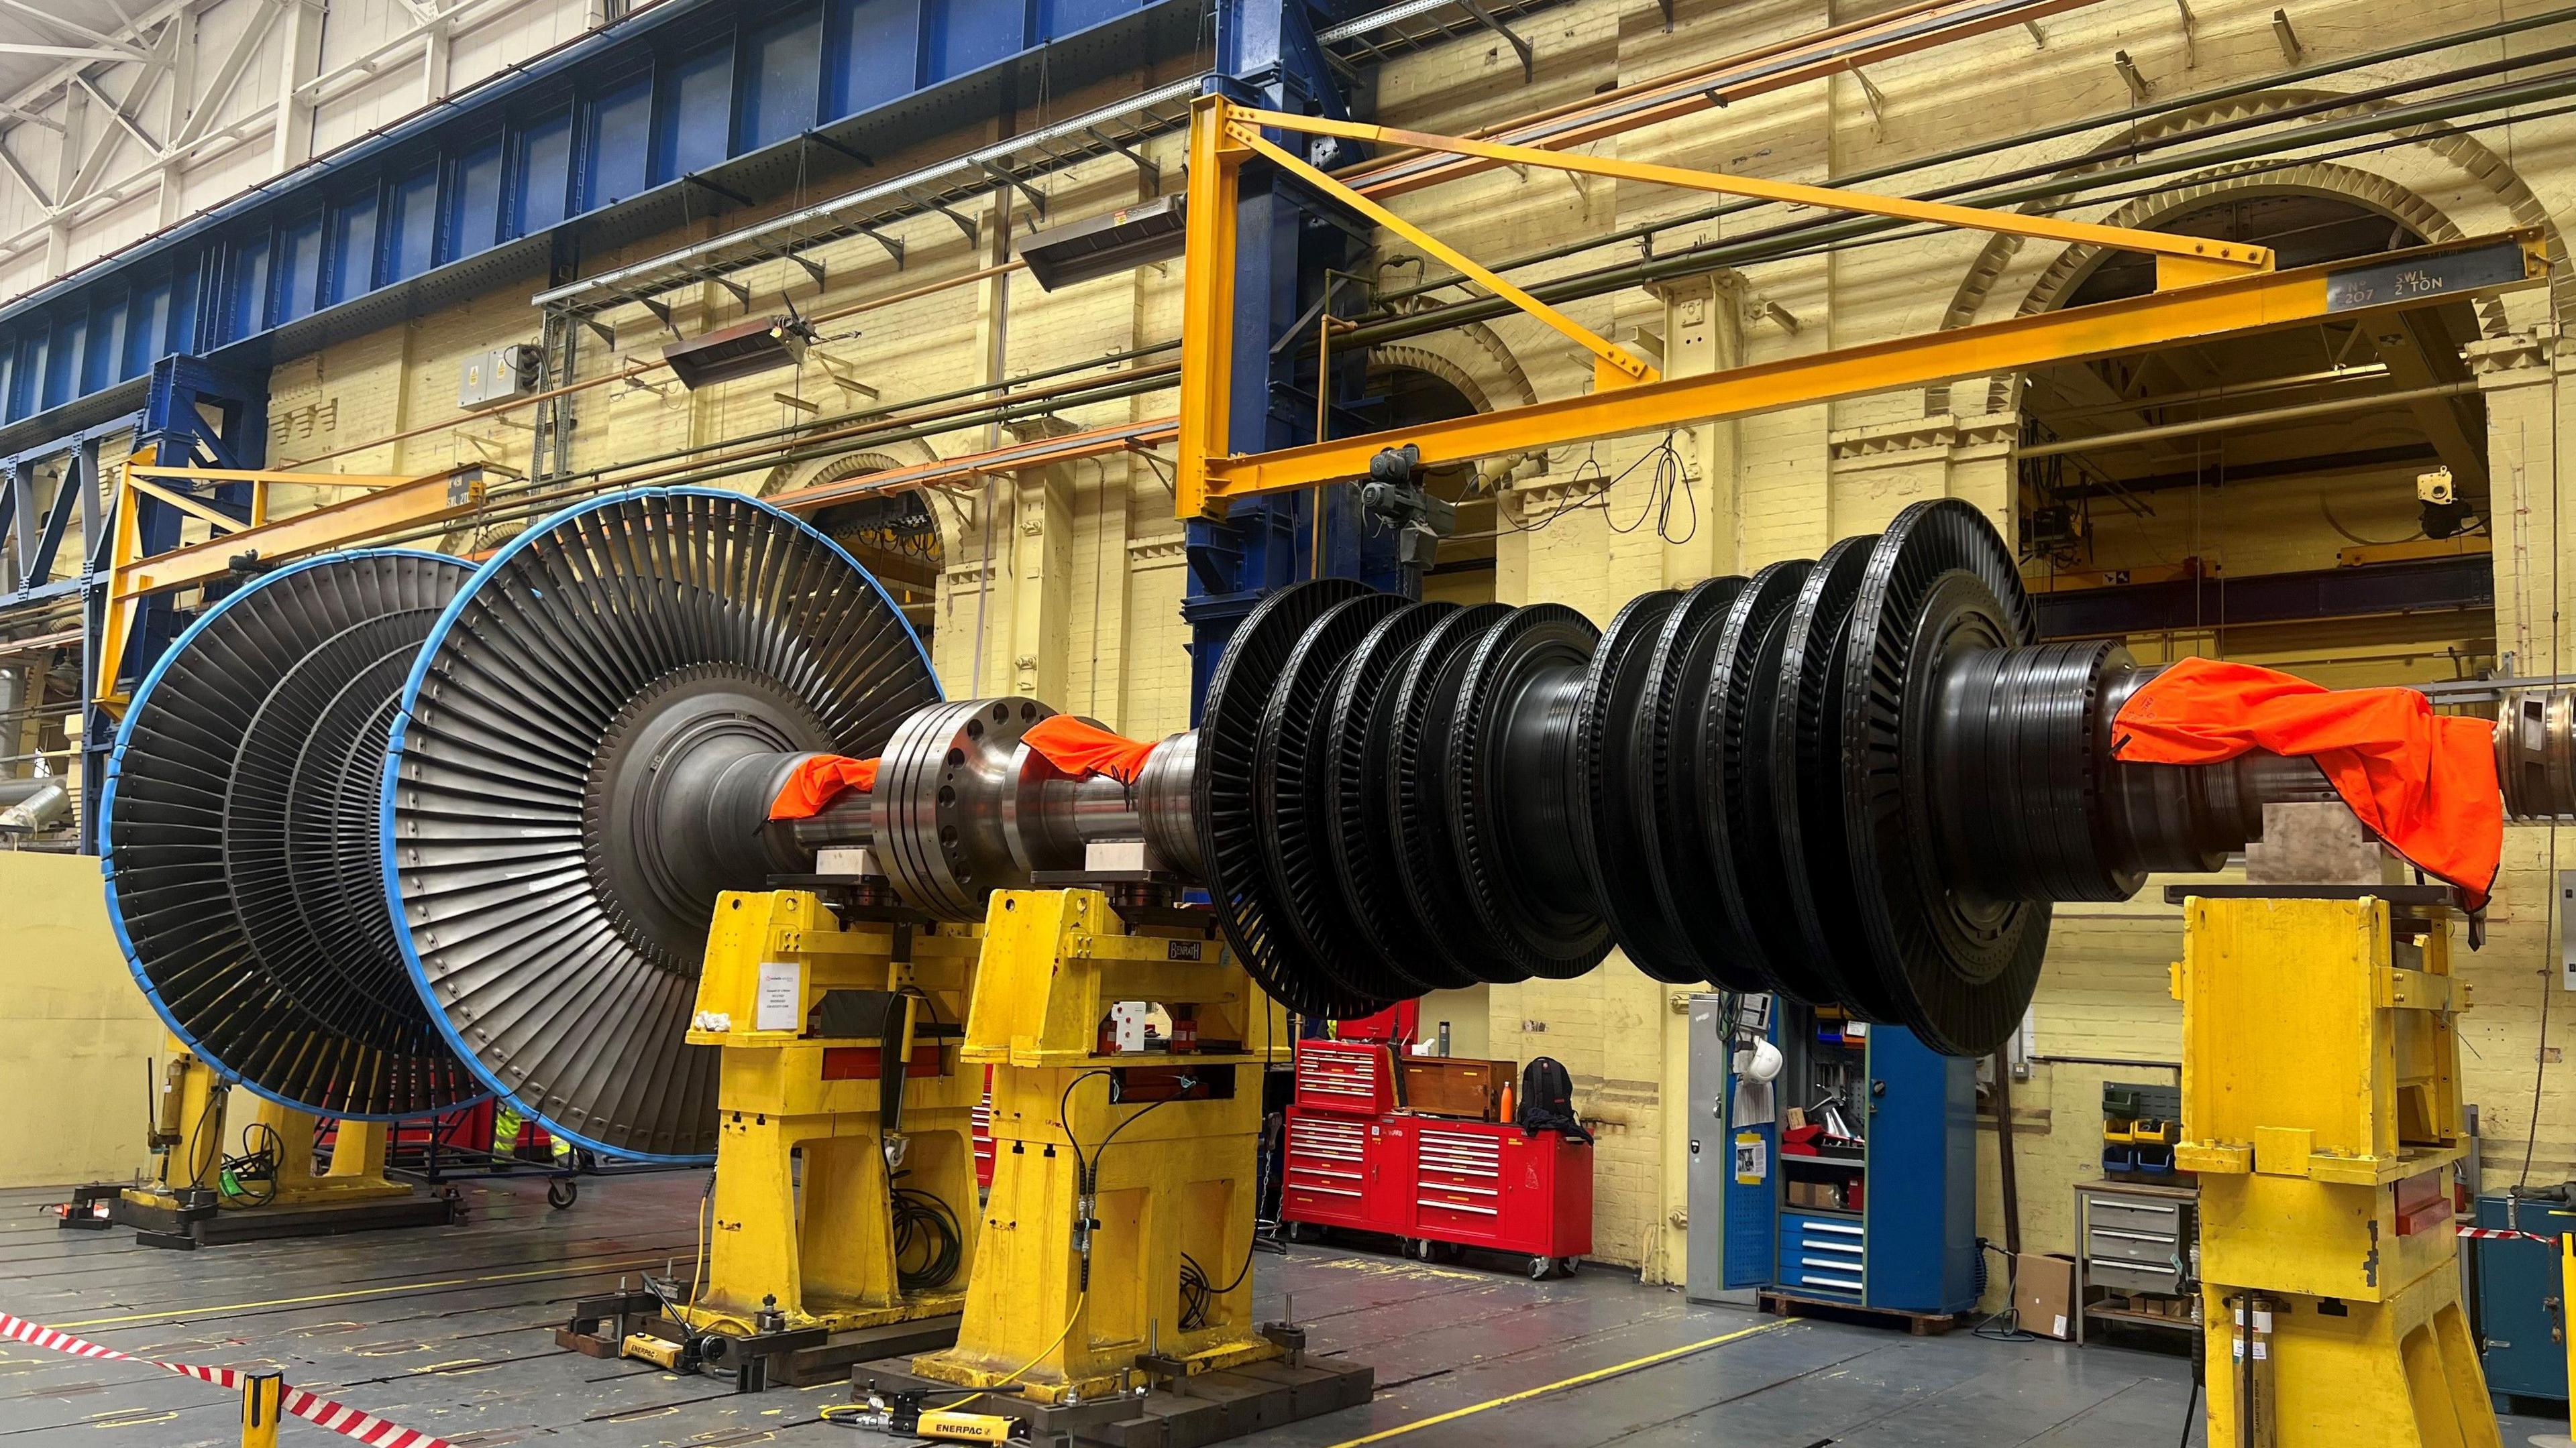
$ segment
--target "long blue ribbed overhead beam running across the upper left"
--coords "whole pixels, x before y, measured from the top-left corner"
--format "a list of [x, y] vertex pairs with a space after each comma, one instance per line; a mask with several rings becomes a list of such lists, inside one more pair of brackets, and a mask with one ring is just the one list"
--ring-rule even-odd
[[1188, 0], [654, 5], [0, 307], [0, 453], [1198, 44]]

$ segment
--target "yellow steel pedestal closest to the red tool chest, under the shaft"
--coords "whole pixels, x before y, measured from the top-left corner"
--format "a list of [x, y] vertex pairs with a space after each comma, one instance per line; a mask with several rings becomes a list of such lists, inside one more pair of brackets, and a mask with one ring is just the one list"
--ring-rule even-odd
[[[992, 1198], [958, 1342], [914, 1373], [1066, 1402], [1280, 1355], [1247, 1262], [1288, 1018], [1211, 928], [1157, 917], [1182, 922], [1131, 928], [1092, 889], [992, 897], [966, 1018], [966, 1059], [994, 1067]], [[1198, 1051], [1103, 1051], [1131, 1000], [1190, 1020]]]

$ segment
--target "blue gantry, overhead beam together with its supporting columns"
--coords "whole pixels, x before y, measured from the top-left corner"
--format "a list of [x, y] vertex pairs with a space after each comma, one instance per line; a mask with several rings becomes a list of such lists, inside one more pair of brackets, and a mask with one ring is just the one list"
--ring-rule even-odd
[[[1347, 116], [1316, 31], [1350, 8], [1216, 0], [1213, 85]], [[77, 459], [129, 420], [162, 461], [263, 466], [265, 368], [281, 358], [510, 281], [577, 276], [590, 237], [752, 206], [806, 183], [817, 162], [871, 165], [871, 149], [1149, 72], [1208, 44], [1206, 18], [1182, 0], [667, 0], [0, 307], [0, 472]], [[1365, 252], [1368, 232], [1255, 173], [1239, 234], [1231, 443], [1293, 446], [1314, 435], [1319, 386], [1337, 412], [1358, 402], [1358, 358], [1319, 379], [1283, 343], [1342, 301], [1327, 299], [1327, 278]], [[224, 492], [209, 502], [232, 502]], [[1221, 523], [1190, 526], [1193, 701], [1267, 593], [1314, 575], [1401, 587], [1394, 533], [1370, 538], [1347, 492], [1239, 502]], [[144, 551], [160, 533], [175, 541], [175, 508], [139, 508]], [[80, 577], [41, 569], [0, 611], [36, 603], [28, 582], [46, 598], [77, 587], [98, 636], [111, 520], [85, 523]], [[149, 600], [134, 647], [90, 657], [88, 683], [139, 675], [183, 626], [167, 600]], [[108, 724], [90, 719], [98, 747]]]

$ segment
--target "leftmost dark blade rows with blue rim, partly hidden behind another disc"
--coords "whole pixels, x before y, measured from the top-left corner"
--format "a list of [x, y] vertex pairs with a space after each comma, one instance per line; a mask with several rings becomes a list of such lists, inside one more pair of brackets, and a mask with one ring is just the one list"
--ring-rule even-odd
[[319, 1116], [484, 1095], [402, 974], [374, 809], [348, 806], [471, 572], [366, 551], [252, 580], [137, 688], [108, 765], [108, 902], [144, 992], [219, 1072]]

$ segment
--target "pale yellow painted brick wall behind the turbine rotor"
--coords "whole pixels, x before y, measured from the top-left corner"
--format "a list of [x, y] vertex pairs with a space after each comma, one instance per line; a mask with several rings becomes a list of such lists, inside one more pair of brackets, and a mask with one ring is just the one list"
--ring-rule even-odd
[[[1726, 111], [1700, 113], [1677, 124], [1597, 142], [1602, 155], [1625, 155], [1698, 167], [1741, 170], [1767, 178], [1834, 180], [1860, 167], [1901, 157], [1922, 157], [1978, 139], [2007, 137], [2069, 116], [2107, 116], [2125, 103], [2125, 90], [2110, 64], [2112, 49], [2125, 49], [2159, 95], [2200, 90], [2244, 77], [2275, 75], [2285, 67], [2272, 36], [2267, 0], [2195, 0], [2195, 39], [2190, 54], [2177, 10], [2161, 0], [2102, 0], [2045, 21], [2048, 44], [2035, 49], [2022, 31], [1971, 39], [1870, 70], [1880, 93], [1873, 116], [1862, 85], [1837, 77], [1741, 100]], [[2514, 0], [2501, 13], [2527, 13]], [[1520, 82], [1510, 46], [1468, 36], [1448, 46], [1406, 54], [1376, 77], [1381, 119], [1406, 126], [1466, 131], [1543, 106], [1577, 103], [1602, 85], [1664, 75], [1674, 67], [1708, 62], [1741, 49], [1814, 33], [1850, 18], [1850, 10], [1821, 0], [1677, 0], [1680, 23], [1667, 31], [1651, 5], [1610, 0], [1571, 0], [1546, 13], [1515, 21], [1538, 46], [1538, 77]], [[2298, 36], [2311, 59], [2354, 54], [2403, 39], [2458, 31], [2494, 21], [2494, 5], [2465, 0], [2427, 0], [2421, 5], [2370, 5], [2326, 0], [2295, 15]], [[2519, 44], [2519, 41], [2517, 41]], [[2491, 52], [2481, 52], [2491, 54]], [[2427, 75], [2460, 57], [2429, 57], [2401, 67], [2342, 77], [2331, 85], [2362, 88]], [[1087, 95], [1056, 98], [1048, 116], [1064, 116], [1136, 90], [1167, 75], [1136, 75]], [[1038, 116], [1020, 116], [1033, 124]], [[994, 126], [925, 142], [912, 155], [886, 157], [884, 173], [953, 155], [984, 139]], [[2115, 137], [2097, 126], [2045, 147], [1996, 152], [1968, 162], [1904, 178], [1904, 186], [1973, 180], [2040, 160], [2074, 160], [2087, 147]], [[2362, 178], [2396, 183], [2450, 216], [2463, 232], [2499, 229], [2517, 216], [2563, 216], [2576, 198], [2576, 121], [2519, 121], [2483, 131], [2478, 152], [2439, 139], [2409, 139], [2383, 155], [2342, 157], [2336, 165]], [[1180, 186], [1177, 139], [1149, 147], [1162, 162], [1167, 186]], [[2486, 160], [2481, 160], [2486, 157]], [[2509, 160], [2506, 160], [2509, 157]], [[2519, 180], [2517, 180], [2519, 178]], [[2326, 178], [2321, 183], [2329, 183]], [[2339, 180], [2336, 180], [2339, 183]], [[1136, 170], [1123, 162], [1092, 162], [1043, 183], [1051, 216], [1087, 216], [1136, 196]], [[1896, 188], [1899, 183], [1883, 183]], [[2527, 193], [2514, 191], [2527, 186]], [[783, 206], [783, 201], [778, 204]], [[757, 214], [737, 211], [724, 224]], [[1396, 201], [1406, 216], [1463, 242], [1484, 258], [1556, 245], [1579, 234], [1600, 234], [1646, 216], [1672, 216], [1708, 206], [1705, 196], [1654, 193], [1607, 180], [1571, 180], [1561, 173], [1492, 170], [1468, 183], [1412, 193]], [[2107, 209], [2107, 206], [2102, 206]], [[2076, 211], [2084, 216], [2099, 214]], [[755, 268], [755, 312], [781, 309], [778, 296], [793, 296], [806, 314], [829, 312], [871, 296], [891, 296], [938, 278], [963, 276], [997, 255], [1002, 229], [1025, 234], [1025, 206], [999, 201], [979, 211], [984, 247], [971, 247], [940, 216], [894, 227], [909, 245], [909, 263], [894, 271], [868, 240], [817, 247], [827, 278], [817, 283], [788, 263]], [[1793, 214], [1795, 216], [1795, 214]], [[1728, 216], [1659, 240], [1659, 250], [1690, 240], [1747, 234], [1780, 224], [1780, 211]], [[688, 234], [634, 237], [590, 260], [608, 268], [647, 258], [708, 234], [698, 224]], [[1618, 330], [1656, 325], [1667, 338], [1698, 338], [1690, 345], [1723, 350], [1726, 361], [1765, 363], [1808, 356], [1837, 345], [1922, 332], [1937, 325], [1963, 296], [1981, 319], [2012, 314], [2032, 283], [2056, 260], [2053, 247], [2007, 247], [1991, 286], [1971, 289], [1986, 242], [1978, 237], [1929, 237], [1901, 245], [1814, 252], [1728, 273], [1703, 289], [1698, 312], [1682, 319], [1667, 304], [1643, 294], [1577, 301], [1569, 312], [1589, 327]], [[1381, 260], [1394, 281], [1417, 273], [1394, 258]], [[1533, 268], [1530, 278], [1561, 276], [1587, 265], [1636, 255], [1600, 250]], [[690, 443], [719, 443], [757, 430], [799, 425], [804, 412], [783, 405], [786, 392], [845, 410], [855, 394], [832, 381], [845, 374], [881, 389], [884, 399], [904, 402], [961, 386], [992, 384], [1079, 358], [1121, 353], [1144, 343], [1170, 340], [1177, 327], [1180, 265], [1141, 268], [1131, 278], [1105, 278], [1056, 294], [1041, 291], [1025, 276], [948, 289], [896, 307], [871, 309], [848, 322], [827, 325], [822, 358], [796, 374], [768, 374], [701, 394], [685, 394], [665, 376], [652, 386], [603, 386], [585, 392], [572, 407], [577, 466], [611, 466]], [[1528, 278], [1525, 278], [1528, 281]], [[1687, 289], [1669, 289], [1682, 296]], [[675, 327], [693, 335], [732, 322], [742, 307], [721, 289], [672, 296]], [[1674, 301], [1685, 307], [1687, 301]], [[1716, 307], [1713, 319], [1705, 309]], [[2561, 559], [2576, 551], [2576, 538], [2561, 538], [2550, 502], [2558, 490], [2561, 435], [2576, 428], [2576, 407], [2561, 399], [2555, 361], [2555, 322], [2548, 299], [2519, 294], [2504, 307], [2509, 338], [2481, 343], [2491, 350], [2488, 368], [2491, 461], [2499, 490], [2496, 538], [2496, 647], [2512, 652], [2522, 672], [2553, 672], [2568, 652], [2555, 639], [2566, 631], [2568, 587]], [[384, 438], [456, 417], [456, 366], [489, 345], [531, 340], [536, 314], [526, 289], [502, 291], [466, 307], [451, 307], [371, 338], [335, 345], [322, 356], [294, 358], [276, 368], [276, 397], [283, 435], [273, 456], [301, 461], [332, 448]], [[654, 317], [623, 307], [605, 314], [616, 343], [577, 332], [580, 376], [608, 376], [631, 363], [649, 363], [672, 338]], [[1504, 368], [1484, 343], [1422, 340], [1445, 348], [1497, 397], [1517, 394], [1522, 381], [1540, 399], [1571, 397], [1589, 386], [1584, 353], [1533, 319], [1507, 317], [1489, 335], [1507, 353]], [[1680, 353], [1680, 343], [1677, 343]], [[1708, 366], [1708, 363], [1698, 363]], [[1674, 361], [1677, 371], [1687, 371]], [[2009, 381], [2009, 379], [2007, 379]], [[1620, 474], [1638, 461], [1654, 438], [1628, 438], [1600, 448], [1558, 448], [1530, 459], [1504, 500], [1512, 520], [1497, 538], [1497, 567], [1484, 580], [1445, 577], [1443, 593], [1492, 590], [1507, 603], [1556, 600], [1595, 621], [1605, 621], [1625, 598], [1649, 587], [1687, 585], [1708, 572], [1754, 569], [1759, 564], [1814, 557], [1837, 536], [1878, 528], [1904, 502], [1917, 497], [1968, 497], [2009, 523], [2009, 464], [2004, 443], [2012, 435], [2009, 412], [1991, 415], [1996, 397], [2009, 407], [2009, 386], [1971, 379], [1927, 397], [1891, 392], [1837, 405], [1798, 407], [1744, 417], [1736, 423], [1687, 428], [1674, 446], [1690, 464], [1695, 500], [1710, 502], [1690, 538], [1667, 544], [1646, 533], [1613, 533], [1607, 520], [1625, 523], [1643, 508], [1638, 482], [1610, 492], [1605, 510], [1579, 510], [1543, 531], [1517, 526], [1548, 515], [1574, 500], [1589, 500], [1584, 482]], [[1064, 412], [1056, 425], [1095, 425], [1128, 417], [1162, 417], [1175, 397], [1149, 394]], [[989, 430], [935, 435], [904, 443], [907, 459], [956, 456], [992, 446]], [[425, 472], [466, 459], [526, 466], [531, 435], [500, 420], [422, 435], [404, 443], [363, 448], [330, 466]], [[721, 477], [726, 487], [775, 490], [809, 479], [829, 456], [773, 469], [768, 461], [742, 464]], [[1046, 680], [1054, 703], [1079, 709], [1131, 734], [1162, 734], [1188, 727], [1190, 660], [1180, 624], [1182, 554], [1177, 523], [1170, 515], [1164, 472], [1139, 459], [1105, 459], [1059, 466], [1043, 479], [1012, 484], [974, 479], [933, 505], [943, 526], [945, 557], [935, 603], [935, 662], [951, 693], [1018, 688]], [[2205, 510], [2159, 513], [2120, 533], [2112, 551], [2128, 562], [2172, 559], [2177, 551], [2218, 557], [2233, 572], [2277, 567], [2326, 567], [2339, 546], [2311, 495], [2290, 490], [2241, 490], [2205, 495]], [[2385, 490], [2336, 502], [2344, 526], [2365, 536], [2403, 531], [2403, 497]], [[992, 538], [992, 569], [987, 544]], [[459, 546], [464, 538], [459, 538]], [[2128, 549], [2128, 554], [2120, 554]], [[2553, 598], [2555, 590], [2555, 598]], [[2455, 629], [2476, 634], [2476, 629]], [[2148, 654], [2208, 649], [2208, 636], [2174, 636]], [[2442, 678], [2455, 649], [2478, 647], [2463, 636], [2414, 636], [2396, 626], [2316, 629], [2264, 634], [2231, 644], [2246, 657], [2300, 667], [2329, 683], [2388, 683], [2401, 678]], [[981, 670], [976, 670], [981, 660]], [[2481, 660], [2483, 662], [2483, 660]], [[2566, 840], [2566, 866], [2576, 868], [2576, 840]], [[2548, 920], [2548, 832], [2517, 830], [2509, 840], [2506, 873], [2491, 915], [2491, 943], [2468, 956], [2470, 982], [2481, 1007], [2468, 1023], [2468, 1098], [2486, 1108], [2494, 1144], [2491, 1162], [2512, 1159], [2501, 1180], [2519, 1172], [2519, 1141], [2532, 1121], [2532, 1077], [2537, 1067], [2537, 1025], [2543, 1000], [2555, 1000], [2543, 976], [2550, 956]], [[2172, 1062], [2174, 1005], [2164, 995], [2164, 961], [2177, 946], [2174, 917], [2141, 894], [2120, 907], [2074, 907], [2061, 912], [2050, 966], [2035, 1007], [2035, 1036], [2043, 1056], [2099, 1056], [2120, 1062]], [[1680, 1018], [1669, 1007], [1672, 987], [1649, 982], [1613, 958], [1579, 982], [1533, 982], [1494, 987], [1484, 997], [1484, 1051], [1497, 1056], [1551, 1054], [1574, 1072], [1582, 1105], [1602, 1121], [1597, 1252], [1638, 1265], [1649, 1278], [1680, 1268], [1674, 1214], [1680, 1196], [1677, 1131], [1667, 1131], [1669, 1110], [1682, 1090]], [[1443, 1007], [1463, 1007], [1445, 1002]], [[2566, 1028], [2576, 1036], [2576, 1028]], [[1463, 1036], [1463, 1031], [1461, 1031]], [[2105, 1077], [2159, 1080], [2156, 1067], [2094, 1067], [2043, 1062], [2020, 1090], [2030, 1113], [2020, 1136], [2020, 1180], [2025, 1232], [2035, 1247], [2063, 1247], [2066, 1185], [2097, 1159], [2094, 1103]], [[2540, 1077], [2540, 1131], [2532, 1149], [2532, 1177], [2555, 1180], [2576, 1172], [2576, 1113], [2568, 1100], [2568, 1074], [2553, 1067]], [[1994, 1229], [1994, 1183], [1984, 1208]], [[2491, 1180], [2499, 1180], [2491, 1172]]]

